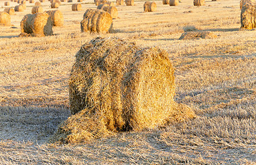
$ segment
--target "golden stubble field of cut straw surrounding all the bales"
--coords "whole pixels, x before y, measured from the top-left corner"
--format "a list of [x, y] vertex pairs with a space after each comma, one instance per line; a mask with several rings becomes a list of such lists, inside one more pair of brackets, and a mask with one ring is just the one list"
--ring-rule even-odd
[[[19, 38], [19, 23], [33, 6], [27, 1], [24, 12], [11, 16], [12, 26], [0, 29], [0, 164], [256, 164], [256, 31], [239, 30], [238, 0], [208, 0], [200, 7], [181, 1], [175, 7], [156, 1], [157, 12], [143, 12], [144, 1], [117, 6], [110, 34], [80, 32], [83, 13], [97, 8], [93, 1], [77, 12], [72, 3], [61, 3], [64, 26], [54, 27], [54, 36]], [[43, 3], [43, 10], [49, 5]], [[179, 40], [191, 30], [217, 38]], [[96, 36], [166, 50], [175, 67], [175, 100], [197, 118], [84, 145], [47, 144], [70, 115], [75, 54]]]

